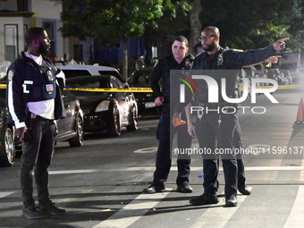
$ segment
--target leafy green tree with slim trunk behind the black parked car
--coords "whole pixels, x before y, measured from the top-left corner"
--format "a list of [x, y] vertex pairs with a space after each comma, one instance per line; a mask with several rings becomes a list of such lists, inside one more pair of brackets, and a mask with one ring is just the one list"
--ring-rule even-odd
[[[173, 2], [173, 3], [172, 3]], [[127, 38], [139, 38], [160, 27], [159, 19], [187, 15], [190, 5], [170, 0], [63, 0], [63, 37], [101, 39], [106, 46], [122, 41], [122, 74], [127, 77]]]

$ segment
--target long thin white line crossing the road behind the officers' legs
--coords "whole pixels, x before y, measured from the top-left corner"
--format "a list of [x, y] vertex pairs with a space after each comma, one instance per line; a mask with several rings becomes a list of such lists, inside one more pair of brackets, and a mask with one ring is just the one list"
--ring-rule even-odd
[[[74, 173], [98, 173], [98, 172], [126, 172], [126, 171], [154, 171], [155, 166], [139, 166], [121, 169], [79, 169], [79, 170], [58, 170], [49, 171], [50, 175], [74, 174]], [[223, 168], [220, 168], [223, 171]], [[171, 171], [177, 171], [177, 167], [171, 167]], [[191, 167], [191, 171], [203, 172], [203, 167]], [[304, 171], [304, 166], [246, 166], [245, 171]]]

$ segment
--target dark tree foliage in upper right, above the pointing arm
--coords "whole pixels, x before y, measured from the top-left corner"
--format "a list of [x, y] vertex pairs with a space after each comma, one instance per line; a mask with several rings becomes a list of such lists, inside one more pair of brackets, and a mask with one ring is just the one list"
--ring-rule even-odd
[[234, 48], [267, 46], [289, 37], [288, 46], [303, 46], [303, 0], [203, 0], [203, 27], [221, 30], [221, 45]]

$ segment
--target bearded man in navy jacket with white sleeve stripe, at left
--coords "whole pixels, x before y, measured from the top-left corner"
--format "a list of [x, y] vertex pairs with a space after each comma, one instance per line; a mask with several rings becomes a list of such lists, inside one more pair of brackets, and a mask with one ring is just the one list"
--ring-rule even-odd
[[[46, 30], [30, 28], [25, 36], [28, 51], [10, 65], [7, 72], [7, 106], [21, 139], [22, 215], [64, 215], [49, 198], [48, 172], [55, 147], [56, 119], [65, 117], [60, 86], [64, 74], [45, 56], [50, 49]], [[32, 170], [38, 190], [38, 207], [33, 198]]]

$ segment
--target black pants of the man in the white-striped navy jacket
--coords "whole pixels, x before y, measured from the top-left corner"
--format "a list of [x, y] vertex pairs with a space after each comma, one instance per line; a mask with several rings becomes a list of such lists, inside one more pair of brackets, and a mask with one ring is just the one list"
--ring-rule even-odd
[[22, 140], [21, 190], [24, 207], [31, 207], [35, 204], [32, 183], [34, 167], [38, 202], [45, 204], [49, 201], [47, 168], [51, 164], [54, 151], [55, 132], [54, 121], [37, 116], [36, 119], [31, 119], [30, 131]]

